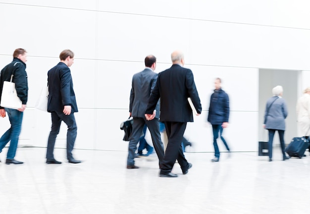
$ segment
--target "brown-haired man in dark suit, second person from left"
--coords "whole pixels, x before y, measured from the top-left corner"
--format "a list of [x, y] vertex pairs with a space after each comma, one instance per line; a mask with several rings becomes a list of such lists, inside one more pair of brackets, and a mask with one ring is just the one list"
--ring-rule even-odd
[[70, 50], [64, 50], [59, 55], [60, 62], [48, 72], [49, 101], [48, 111], [52, 113], [52, 130], [50, 132], [47, 149], [48, 164], [60, 164], [54, 159], [54, 146], [57, 134], [59, 133], [61, 121], [68, 126], [67, 131], [67, 159], [70, 163], [80, 163], [72, 156], [77, 126], [74, 112], [78, 112], [70, 66], [73, 64], [74, 54]]

